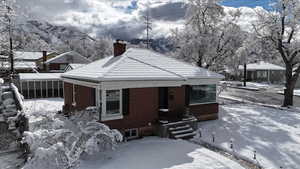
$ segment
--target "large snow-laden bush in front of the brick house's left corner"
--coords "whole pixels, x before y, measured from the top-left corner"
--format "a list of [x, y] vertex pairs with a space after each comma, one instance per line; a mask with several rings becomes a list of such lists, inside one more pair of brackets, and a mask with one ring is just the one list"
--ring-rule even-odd
[[77, 112], [70, 119], [43, 114], [31, 132], [25, 132], [32, 158], [23, 169], [66, 169], [78, 164], [82, 153], [93, 154], [113, 150], [122, 141], [122, 134], [95, 121], [94, 112]]

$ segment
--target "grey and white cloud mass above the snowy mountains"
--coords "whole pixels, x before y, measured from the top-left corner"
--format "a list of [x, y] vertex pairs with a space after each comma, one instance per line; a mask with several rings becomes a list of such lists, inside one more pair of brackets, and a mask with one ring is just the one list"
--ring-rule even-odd
[[[184, 25], [186, 0], [17, 0], [33, 19], [77, 27], [92, 36], [129, 40], [145, 37], [142, 16], [152, 17], [151, 37], [165, 36]], [[226, 10], [235, 8], [226, 7]], [[243, 7], [239, 22], [244, 28], [253, 10]], [[251, 25], [250, 25], [251, 26]]]

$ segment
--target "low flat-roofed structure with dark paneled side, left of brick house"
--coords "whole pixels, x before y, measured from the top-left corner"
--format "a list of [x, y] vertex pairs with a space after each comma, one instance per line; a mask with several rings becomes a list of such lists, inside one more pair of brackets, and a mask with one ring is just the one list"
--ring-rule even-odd
[[25, 99], [63, 97], [61, 73], [20, 73], [16, 86]]

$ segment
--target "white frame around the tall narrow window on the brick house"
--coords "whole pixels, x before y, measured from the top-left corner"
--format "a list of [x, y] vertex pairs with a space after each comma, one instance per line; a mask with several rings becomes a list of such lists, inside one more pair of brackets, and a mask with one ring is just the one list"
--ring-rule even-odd
[[[123, 96], [123, 91], [122, 89], [114, 89], [114, 90], [119, 90], [120, 92], [120, 111], [118, 114], [107, 114], [106, 112], [106, 91], [107, 90], [101, 90], [101, 89], [96, 89], [96, 102], [97, 102], [97, 106], [99, 106], [99, 92], [101, 91], [101, 104], [102, 104], [102, 112], [99, 112], [101, 113], [101, 121], [110, 121], [110, 120], [119, 120], [119, 119], [123, 119], [123, 99], [122, 99], [122, 96]], [[100, 117], [100, 115], [99, 115]]]

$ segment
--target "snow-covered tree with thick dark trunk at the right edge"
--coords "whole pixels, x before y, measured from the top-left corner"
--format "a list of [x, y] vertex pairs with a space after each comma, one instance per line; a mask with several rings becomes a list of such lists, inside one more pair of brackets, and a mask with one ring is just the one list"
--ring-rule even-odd
[[300, 74], [300, 1], [279, 0], [276, 11], [258, 11], [254, 25], [257, 38], [265, 43], [267, 51], [276, 51], [285, 64], [285, 91], [283, 106], [293, 105], [295, 84]]

